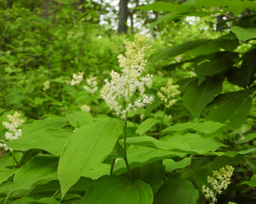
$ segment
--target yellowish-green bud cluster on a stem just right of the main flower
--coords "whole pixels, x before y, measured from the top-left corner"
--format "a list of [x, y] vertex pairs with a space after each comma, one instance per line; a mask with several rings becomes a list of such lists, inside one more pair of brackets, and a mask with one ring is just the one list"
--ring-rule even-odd
[[178, 91], [179, 85], [173, 85], [172, 83], [173, 79], [170, 78], [166, 83], [166, 87], [161, 87], [161, 92], [158, 92], [158, 97], [165, 102], [166, 108], [170, 108], [175, 104], [177, 100], [173, 98], [180, 94], [180, 91]]

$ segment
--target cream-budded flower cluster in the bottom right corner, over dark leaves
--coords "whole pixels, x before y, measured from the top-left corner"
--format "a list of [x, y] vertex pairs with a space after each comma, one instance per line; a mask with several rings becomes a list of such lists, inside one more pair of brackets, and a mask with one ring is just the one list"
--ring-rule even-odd
[[213, 190], [203, 185], [202, 193], [205, 194], [207, 199], [211, 199], [212, 203], [217, 202], [217, 194], [222, 194], [222, 190], [226, 190], [227, 186], [229, 186], [233, 171], [234, 167], [227, 165], [226, 167], [220, 168], [219, 171], [213, 171], [214, 177], [207, 177], [207, 182], [210, 183]]

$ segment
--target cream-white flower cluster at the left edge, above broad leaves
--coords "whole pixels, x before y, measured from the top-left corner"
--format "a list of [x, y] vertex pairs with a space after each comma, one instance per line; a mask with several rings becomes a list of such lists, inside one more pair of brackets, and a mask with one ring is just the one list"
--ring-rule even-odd
[[[12, 123], [8, 123], [6, 121], [2, 122], [2, 125], [8, 129], [8, 131], [6, 131], [6, 139], [7, 140], [13, 140], [13, 139], [18, 139], [21, 135], [22, 135], [22, 129], [18, 129], [18, 127], [23, 124], [25, 121], [20, 119], [19, 117], [21, 116], [21, 114], [19, 114], [18, 112], [14, 112], [14, 116], [10, 116], [7, 115], [7, 119], [12, 122]], [[0, 140], [0, 147], [3, 147], [5, 151], [12, 151], [12, 149], [10, 149], [9, 147], [6, 146], [6, 143], [3, 140]]]

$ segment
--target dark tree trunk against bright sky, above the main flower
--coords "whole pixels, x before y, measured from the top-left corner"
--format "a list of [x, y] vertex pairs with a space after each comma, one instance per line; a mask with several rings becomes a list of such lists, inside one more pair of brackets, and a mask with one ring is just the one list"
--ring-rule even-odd
[[128, 0], [119, 2], [118, 33], [127, 33]]

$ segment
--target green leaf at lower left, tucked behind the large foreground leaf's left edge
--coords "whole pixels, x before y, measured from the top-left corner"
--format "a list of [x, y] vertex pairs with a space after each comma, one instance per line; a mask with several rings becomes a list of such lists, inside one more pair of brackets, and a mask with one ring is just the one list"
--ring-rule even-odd
[[15, 190], [31, 190], [57, 179], [58, 159], [52, 156], [36, 156], [26, 163], [14, 175]]

